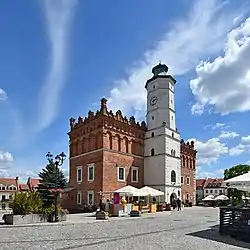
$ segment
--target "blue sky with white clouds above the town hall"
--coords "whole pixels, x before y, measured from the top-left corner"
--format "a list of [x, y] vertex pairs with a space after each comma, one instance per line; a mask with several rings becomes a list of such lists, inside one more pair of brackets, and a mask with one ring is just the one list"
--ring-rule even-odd
[[247, 10], [244, 0], [2, 0], [0, 176], [25, 180], [47, 151], [68, 153], [69, 118], [103, 96], [144, 119], [159, 60], [177, 79], [177, 126], [196, 141], [197, 175], [250, 161]]

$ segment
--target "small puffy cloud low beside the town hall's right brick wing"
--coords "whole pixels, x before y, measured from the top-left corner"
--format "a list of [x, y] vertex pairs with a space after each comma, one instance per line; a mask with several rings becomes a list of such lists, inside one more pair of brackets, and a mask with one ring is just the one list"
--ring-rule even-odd
[[217, 163], [221, 155], [228, 153], [228, 147], [225, 143], [221, 143], [219, 138], [211, 138], [206, 142], [197, 141], [196, 139], [189, 139], [189, 141], [191, 140], [195, 141], [198, 166]]

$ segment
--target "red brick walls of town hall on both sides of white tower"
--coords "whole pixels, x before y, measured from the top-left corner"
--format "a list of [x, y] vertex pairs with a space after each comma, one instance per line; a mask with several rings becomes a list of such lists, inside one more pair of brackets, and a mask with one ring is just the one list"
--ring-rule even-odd
[[[107, 109], [101, 100], [97, 112], [85, 118], [70, 119], [69, 187], [64, 204], [77, 209], [84, 204], [98, 204], [100, 191], [115, 191], [126, 185], [144, 186], [145, 122], [129, 119], [118, 110]], [[181, 141], [182, 197], [195, 203], [194, 142]]]

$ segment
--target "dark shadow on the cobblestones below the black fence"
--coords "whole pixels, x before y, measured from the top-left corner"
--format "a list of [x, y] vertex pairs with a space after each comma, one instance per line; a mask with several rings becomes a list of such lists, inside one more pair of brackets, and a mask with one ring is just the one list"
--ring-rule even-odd
[[219, 226], [212, 226], [209, 229], [197, 231], [194, 233], [186, 234], [188, 236], [203, 238], [207, 240], [213, 240], [221, 243], [225, 243], [231, 246], [241, 247], [242, 249], [250, 249], [250, 243], [242, 242], [239, 240], [236, 240], [235, 238], [232, 238], [227, 235], [221, 235], [219, 233]]

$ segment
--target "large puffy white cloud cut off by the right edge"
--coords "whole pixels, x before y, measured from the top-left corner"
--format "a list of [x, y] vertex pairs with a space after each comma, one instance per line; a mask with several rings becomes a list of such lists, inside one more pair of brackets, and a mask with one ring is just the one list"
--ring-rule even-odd
[[[214, 112], [229, 114], [250, 110], [250, 18], [227, 35], [224, 55], [212, 62], [200, 62], [190, 88], [196, 106], [213, 107]], [[202, 110], [203, 112], [203, 110]], [[202, 112], [198, 111], [198, 114]]]

